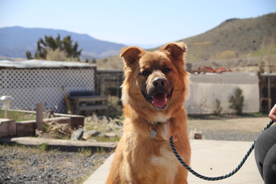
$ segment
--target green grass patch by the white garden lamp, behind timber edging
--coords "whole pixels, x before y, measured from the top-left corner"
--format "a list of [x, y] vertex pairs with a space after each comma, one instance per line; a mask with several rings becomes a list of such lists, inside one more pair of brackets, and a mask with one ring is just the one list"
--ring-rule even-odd
[[[4, 118], [5, 111], [0, 109], [0, 118]], [[14, 119], [15, 121], [26, 121], [36, 119], [36, 115], [32, 113], [23, 113], [17, 111], [8, 111], [8, 119]]]

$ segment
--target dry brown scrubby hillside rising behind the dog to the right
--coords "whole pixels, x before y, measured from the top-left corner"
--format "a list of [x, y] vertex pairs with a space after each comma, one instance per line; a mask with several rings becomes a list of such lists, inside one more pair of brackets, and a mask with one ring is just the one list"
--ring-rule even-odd
[[[257, 18], [229, 19], [219, 26], [203, 34], [182, 39], [187, 47], [187, 62], [196, 63], [197, 66], [209, 63], [216, 63], [212, 66], [221, 66], [228, 59], [256, 57], [260, 55], [260, 48], [263, 42], [267, 49], [269, 42], [276, 42], [276, 13], [263, 15]], [[274, 45], [274, 54], [276, 54]], [[149, 49], [158, 50], [160, 47]], [[122, 68], [122, 61], [118, 55], [97, 60], [99, 65], [118, 66]], [[254, 62], [254, 65], [258, 63]], [[211, 65], [210, 65], [211, 66]]]

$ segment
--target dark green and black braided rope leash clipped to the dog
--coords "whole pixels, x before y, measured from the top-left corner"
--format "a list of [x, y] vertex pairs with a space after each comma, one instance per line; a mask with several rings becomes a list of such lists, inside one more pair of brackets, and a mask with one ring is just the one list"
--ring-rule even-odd
[[[264, 129], [261, 131], [261, 133], [268, 129], [272, 124], [274, 123], [274, 121], [270, 121], [266, 127], [264, 127]], [[260, 133], [260, 134], [261, 134]], [[259, 134], [259, 135], [260, 135]], [[258, 135], [258, 137], [259, 137]], [[257, 138], [258, 138], [257, 137]], [[252, 146], [249, 148], [249, 150], [247, 151], [247, 153], [245, 154], [245, 156], [243, 157], [242, 161], [240, 162], [240, 164], [238, 165], [238, 167], [236, 167], [236, 169], [234, 169], [232, 172], [226, 174], [226, 175], [223, 175], [223, 176], [219, 176], [219, 177], [206, 177], [206, 176], [203, 176], [201, 174], [198, 174], [197, 172], [195, 172], [193, 169], [191, 169], [179, 156], [179, 154], [177, 153], [176, 151], [176, 148], [174, 147], [174, 143], [173, 143], [173, 140], [172, 140], [172, 137], [170, 138], [170, 143], [171, 143], [171, 147], [172, 147], [172, 151], [174, 152], [176, 158], [179, 160], [179, 162], [187, 169], [189, 170], [193, 175], [195, 175], [196, 177], [198, 178], [201, 178], [203, 180], [208, 180], [208, 181], [216, 181], [216, 180], [222, 180], [222, 179], [225, 179], [225, 178], [228, 178], [232, 175], [234, 175], [236, 172], [238, 172], [238, 170], [240, 170], [241, 166], [243, 166], [244, 162], [246, 161], [246, 159], [248, 158], [248, 156], [250, 155], [250, 153], [252, 152], [252, 150], [254, 149], [254, 146], [255, 146], [255, 142], [257, 140], [257, 138], [255, 139], [254, 143], [252, 144]]]

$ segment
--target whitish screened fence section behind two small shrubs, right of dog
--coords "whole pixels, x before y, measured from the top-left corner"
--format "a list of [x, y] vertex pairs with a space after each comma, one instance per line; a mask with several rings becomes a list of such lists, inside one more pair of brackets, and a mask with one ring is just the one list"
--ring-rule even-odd
[[222, 114], [234, 113], [230, 97], [240, 88], [244, 96], [243, 113], [259, 112], [260, 92], [257, 72], [224, 72], [221, 74], [193, 74], [190, 97], [184, 103], [188, 114], [213, 114], [216, 100], [220, 101]]

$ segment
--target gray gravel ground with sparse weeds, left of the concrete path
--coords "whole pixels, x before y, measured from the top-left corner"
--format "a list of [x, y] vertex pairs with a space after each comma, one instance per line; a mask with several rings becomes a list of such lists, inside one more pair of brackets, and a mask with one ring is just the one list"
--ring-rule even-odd
[[0, 183], [83, 183], [110, 154], [1, 146]]

